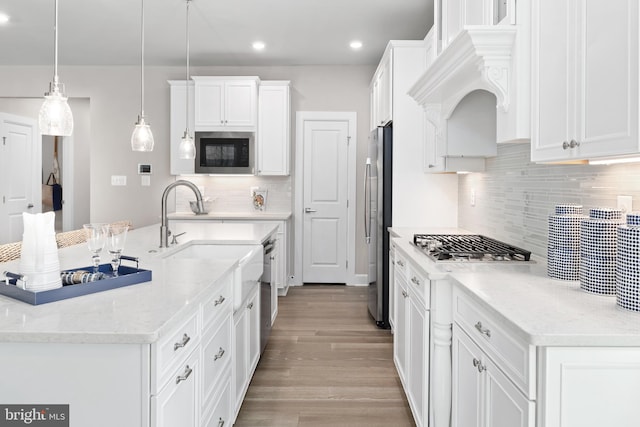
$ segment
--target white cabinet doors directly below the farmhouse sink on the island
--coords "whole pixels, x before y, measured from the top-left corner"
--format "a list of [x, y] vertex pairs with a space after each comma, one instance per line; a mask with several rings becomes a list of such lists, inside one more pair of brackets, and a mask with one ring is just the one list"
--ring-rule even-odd
[[233, 412], [234, 419], [240, 411], [253, 373], [260, 358], [260, 284], [233, 313], [234, 354], [233, 359]]

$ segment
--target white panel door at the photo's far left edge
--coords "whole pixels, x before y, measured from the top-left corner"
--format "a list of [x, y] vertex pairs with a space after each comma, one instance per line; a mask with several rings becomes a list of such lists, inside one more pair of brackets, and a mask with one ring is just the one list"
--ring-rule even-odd
[[22, 213], [41, 211], [39, 136], [34, 119], [0, 113], [0, 243], [22, 240]]

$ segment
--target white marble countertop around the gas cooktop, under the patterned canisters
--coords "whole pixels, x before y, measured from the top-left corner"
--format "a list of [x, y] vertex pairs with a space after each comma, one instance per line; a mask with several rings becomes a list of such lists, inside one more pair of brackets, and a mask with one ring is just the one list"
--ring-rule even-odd
[[640, 313], [618, 307], [614, 296], [581, 290], [577, 281], [549, 278], [545, 259], [532, 257], [532, 263], [517, 264], [436, 263], [410, 243], [414, 231], [395, 228], [394, 235], [401, 236], [393, 240], [396, 247], [431, 280], [451, 280], [530, 344], [640, 346]]

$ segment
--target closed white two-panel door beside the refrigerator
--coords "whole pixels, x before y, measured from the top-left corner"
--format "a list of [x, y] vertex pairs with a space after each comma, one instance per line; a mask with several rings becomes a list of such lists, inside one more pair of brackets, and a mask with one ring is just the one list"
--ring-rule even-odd
[[303, 135], [302, 279], [346, 283], [349, 122], [305, 121]]

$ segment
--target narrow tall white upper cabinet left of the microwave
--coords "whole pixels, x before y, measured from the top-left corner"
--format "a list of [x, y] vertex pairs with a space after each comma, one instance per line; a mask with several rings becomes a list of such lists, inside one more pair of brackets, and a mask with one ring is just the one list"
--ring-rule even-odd
[[[188, 83], [188, 85], [187, 85]], [[171, 175], [181, 175], [194, 173], [194, 161], [180, 159], [178, 156], [178, 147], [187, 128], [187, 87], [189, 88], [189, 131], [193, 137], [195, 130], [194, 124], [194, 83], [184, 80], [169, 81], [169, 96], [171, 105], [169, 111], [169, 143], [171, 145], [170, 152], [170, 168]]]

